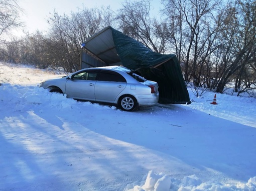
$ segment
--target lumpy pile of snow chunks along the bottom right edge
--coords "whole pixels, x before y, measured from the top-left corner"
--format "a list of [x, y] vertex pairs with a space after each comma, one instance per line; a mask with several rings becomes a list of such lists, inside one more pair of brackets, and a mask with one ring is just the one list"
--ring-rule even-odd
[[247, 183], [221, 184], [219, 182], [202, 182], [195, 174], [185, 176], [182, 180], [171, 178], [163, 173], [154, 173], [150, 170], [145, 183], [140, 185], [129, 184], [125, 191], [254, 191], [256, 189], [256, 176], [248, 180]]

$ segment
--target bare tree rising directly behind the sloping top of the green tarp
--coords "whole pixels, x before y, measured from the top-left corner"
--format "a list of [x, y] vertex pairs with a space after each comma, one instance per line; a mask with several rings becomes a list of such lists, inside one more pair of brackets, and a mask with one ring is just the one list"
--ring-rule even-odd
[[124, 34], [141, 41], [155, 52], [164, 53], [167, 45], [166, 27], [150, 16], [150, 10], [150, 0], [125, 0], [116, 18]]

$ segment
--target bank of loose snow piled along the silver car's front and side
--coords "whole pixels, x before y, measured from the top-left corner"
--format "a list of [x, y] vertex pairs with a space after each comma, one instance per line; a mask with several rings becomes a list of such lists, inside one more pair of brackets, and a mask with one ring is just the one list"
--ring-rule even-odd
[[[115, 106], [101, 106], [89, 101], [79, 102], [66, 97], [66, 94], [51, 93], [47, 89], [35, 86], [11, 85], [4, 83], [0, 93], [1, 104], [12, 105], [15, 111], [27, 111], [39, 108], [74, 109], [80, 106], [92, 106], [116, 109]], [[35, 108], [36, 107], [36, 108]]]

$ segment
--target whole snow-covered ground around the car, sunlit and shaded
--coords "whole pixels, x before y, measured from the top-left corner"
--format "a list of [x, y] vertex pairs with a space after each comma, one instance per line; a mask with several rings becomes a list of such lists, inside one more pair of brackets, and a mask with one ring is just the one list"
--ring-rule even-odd
[[0, 62], [0, 190], [256, 190], [256, 99], [216, 94], [125, 112]]

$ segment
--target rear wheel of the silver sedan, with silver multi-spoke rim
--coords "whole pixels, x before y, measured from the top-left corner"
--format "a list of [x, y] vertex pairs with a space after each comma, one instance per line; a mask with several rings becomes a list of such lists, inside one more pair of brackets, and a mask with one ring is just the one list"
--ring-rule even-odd
[[137, 108], [138, 102], [132, 95], [123, 95], [119, 98], [118, 106], [124, 111], [133, 111]]

